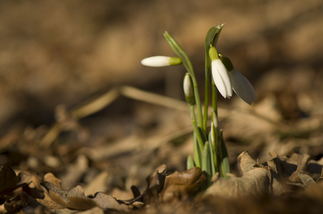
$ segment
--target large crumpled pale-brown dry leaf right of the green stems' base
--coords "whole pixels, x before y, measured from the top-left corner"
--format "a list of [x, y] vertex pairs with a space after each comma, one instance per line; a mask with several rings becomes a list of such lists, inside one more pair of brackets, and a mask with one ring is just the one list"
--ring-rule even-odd
[[[207, 190], [206, 195], [237, 198], [242, 195], [261, 195], [270, 193], [282, 195], [291, 191], [290, 187], [307, 188], [315, 183], [308, 173], [308, 155], [293, 154], [290, 158], [279, 157], [272, 153], [274, 158], [264, 165], [254, 161], [247, 152], [240, 158], [241, 178], [217, 178]], [[319, 167], [316, 167], [319, 170]], [[314, 173], [318, 172], [312, 172]], [[289, 186], [287, 186], [289, 184]]]

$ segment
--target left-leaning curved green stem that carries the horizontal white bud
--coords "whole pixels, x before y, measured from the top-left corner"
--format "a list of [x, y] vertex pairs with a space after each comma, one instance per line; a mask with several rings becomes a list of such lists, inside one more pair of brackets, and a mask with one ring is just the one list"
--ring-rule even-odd
[[197, 78], [194, 74], [194, 69], [192, 66], [192, 61], [189, 59], [189, 56], [185, 53], [185, 51], [182, 49], [182, 47], [177, 43], [177, 41], [169, 35], [169, 33], [166, 31], [164, 33], [165, 39], [168, 41], [169, 45], [172, 47], [173, 51], [179, 56], [179, 58], [182, 58], [183, 65], [187, 69], [187, 72], [189, 72], [189, 75], [192, 77], [193, 81], [193, 88], [194, 88], [194, 96], [195, 96], [195, 103], [197, 105], [197, 122], [199, 124], [199, 127], [203, 127], [203, 116], [202, 116], [202, 105], [201, 100], [199, 98], [199, 88], [197, 86]]

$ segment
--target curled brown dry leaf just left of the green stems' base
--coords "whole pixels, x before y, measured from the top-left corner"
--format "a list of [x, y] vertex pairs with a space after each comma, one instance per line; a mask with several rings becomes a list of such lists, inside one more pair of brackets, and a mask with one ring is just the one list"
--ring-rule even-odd
[[172, 173], [166, 177], [160, 200], [170, 202], [194, 195], [207, 184], [207, 177], [201, 168], [191, 168], [184, 172]]

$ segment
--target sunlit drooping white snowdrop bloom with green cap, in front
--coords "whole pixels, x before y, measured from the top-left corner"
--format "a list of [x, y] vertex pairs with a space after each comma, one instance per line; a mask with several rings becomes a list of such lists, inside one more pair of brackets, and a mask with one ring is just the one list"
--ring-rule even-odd
[[215, 86], [217, 86], [217, 90], [224, 98], [230, 98], [232, 96], [231, 79], [229, 77], [227, 68], [219, 59], [217, 49], [215, 49], [213, 46], [209, 49], [209, 57], [212, 60], [212, 78]]

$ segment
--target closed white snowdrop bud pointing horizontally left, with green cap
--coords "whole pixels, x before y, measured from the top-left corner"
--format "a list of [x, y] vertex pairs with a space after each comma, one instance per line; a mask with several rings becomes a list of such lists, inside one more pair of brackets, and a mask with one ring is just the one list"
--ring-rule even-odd
[[177, 66], [182, 64], [182, 59], [170, 56], [151, 56], [141, 60], [141, 64], [150, 67]]

